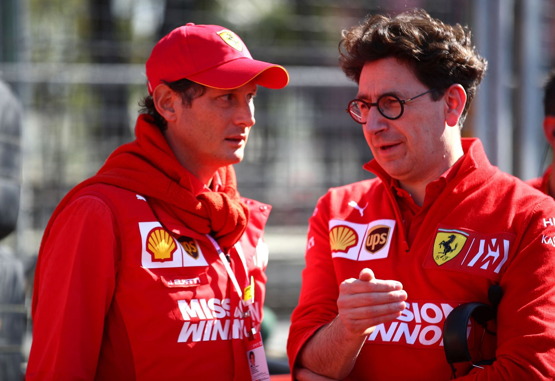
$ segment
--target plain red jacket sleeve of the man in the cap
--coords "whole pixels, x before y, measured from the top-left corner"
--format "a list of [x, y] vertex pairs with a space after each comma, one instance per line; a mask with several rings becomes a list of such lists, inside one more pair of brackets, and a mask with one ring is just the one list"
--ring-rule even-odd
[[56, 218], [41, 253], [27, 380], [94, 379], [119, 258], [117, 225], [84, 195]]

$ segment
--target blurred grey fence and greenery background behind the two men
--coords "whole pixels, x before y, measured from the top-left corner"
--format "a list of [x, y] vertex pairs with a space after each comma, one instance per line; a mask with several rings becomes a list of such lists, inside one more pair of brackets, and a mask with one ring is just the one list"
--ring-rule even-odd
[[345, 113], [357, 88], [337, 66], [341, 30], [415, 7], [468, 25], [489, 61], [463, 136], [482, 139], [503, 171], [537, 177], [550, 161], [542, 86], [555, 63], [555, 0], [0, 0], [0, 79], [13, 94], [6, 88], [0, 99], [10, 99], [4, 111], [19, 126], [0, 125], [0, 186], [13, 196], [21, 184], [17, 229], [0, 241], [0, 378], [8, 363], [26, 362], [34, 263], [51, 213], [133, 139], [144, 63], [187, 22], [229, 28], [254, 58], [290, 72], [285, 89], [259, 89], [256, 126], [235, 167], [240, 193], [273, 205], [266, 306], [275, 320], [265, 346], [285, 358], [316, 200], [372, 177], [362, 169], [371, 152], [361, 127]]

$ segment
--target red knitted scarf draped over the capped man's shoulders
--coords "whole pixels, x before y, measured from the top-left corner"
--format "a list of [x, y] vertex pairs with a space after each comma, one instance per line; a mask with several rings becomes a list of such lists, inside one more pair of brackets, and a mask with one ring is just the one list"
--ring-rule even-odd
[[62, 199], [44, 231], [41, 251], [57, 215], [75, 193], [95, 183], [159, 199], [186, 227], [213, 235], [224, 252], [239, 240], [249, 219], [249, 209], [239, 198], [232, 166], [218, 169], [223, 192], [195, 196], [189, 173], [171, 152], [152, 117], [147, 114], [138, 117], [135, 137], [133, 142], [117, 148], [95, 176], [78, 184]]

